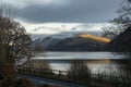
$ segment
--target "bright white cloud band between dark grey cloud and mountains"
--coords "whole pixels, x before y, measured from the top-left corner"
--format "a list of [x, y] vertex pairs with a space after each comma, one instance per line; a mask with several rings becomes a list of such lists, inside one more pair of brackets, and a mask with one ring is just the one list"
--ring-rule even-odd
[[102, 32], [103, 27], [110, 26], [108, 23], [43, 23], [32, 24], [21, 22], [29, 34], [59, 34], [62, 32]]

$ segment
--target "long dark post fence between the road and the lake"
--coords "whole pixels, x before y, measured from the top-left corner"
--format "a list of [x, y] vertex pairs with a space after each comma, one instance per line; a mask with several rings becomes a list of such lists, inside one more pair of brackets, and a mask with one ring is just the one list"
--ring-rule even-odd
[[87, 85], [91, 87], [131, 87], [131, 75], [115, 76], [103, 74], [88, 74], [86, 77], [80, 77], [72, 72], [49, 70], [36, 66], [20, 66], [20, 74], [34, 75], [45, 78], [59, 79]]

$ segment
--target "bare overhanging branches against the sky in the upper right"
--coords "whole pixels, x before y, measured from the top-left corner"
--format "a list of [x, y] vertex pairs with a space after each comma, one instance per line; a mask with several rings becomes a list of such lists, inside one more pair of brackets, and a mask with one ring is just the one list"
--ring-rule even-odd
[[118, 17], [109, 21], [112, 26], [103, 28], [104, 36], [115, 38], [127, 28], [131, 27], [131, 0], [123, 0], [117, 11]]

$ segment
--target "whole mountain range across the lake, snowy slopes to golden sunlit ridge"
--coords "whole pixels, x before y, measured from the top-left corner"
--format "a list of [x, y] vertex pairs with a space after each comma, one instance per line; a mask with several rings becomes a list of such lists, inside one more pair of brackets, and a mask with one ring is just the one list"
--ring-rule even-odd
[[46, 37], [34, 40], [47, 51], [105, 51], [108, 38], [98, 37], [90, 34], [76, 34], [66, 38]]

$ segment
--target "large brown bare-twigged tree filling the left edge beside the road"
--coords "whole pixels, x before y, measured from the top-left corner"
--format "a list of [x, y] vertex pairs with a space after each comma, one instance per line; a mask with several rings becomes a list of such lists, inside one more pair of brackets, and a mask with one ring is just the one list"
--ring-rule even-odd
[[24, 27], [13, 20], [11, 9], [0, 5], [0, 87], [11, 87], [15, 66], [32, 57], [32, 39]]

